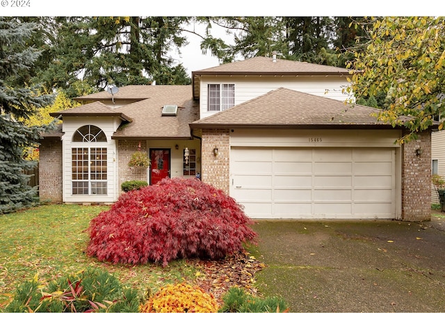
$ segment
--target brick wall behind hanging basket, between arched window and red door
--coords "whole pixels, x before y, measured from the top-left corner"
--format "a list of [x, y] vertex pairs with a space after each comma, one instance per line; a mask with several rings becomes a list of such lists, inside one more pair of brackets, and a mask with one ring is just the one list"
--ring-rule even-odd
[[131, 154], [138, 150], [140, 143], [140, 150], [147, 152], [147, 141], [118, 141], [118, 175], [119, 175], [119, 191], [122, 193], [120, 186], [123, 182], [128, 180], [143, 180], [148, 182], [146, 168], [129, 168]]

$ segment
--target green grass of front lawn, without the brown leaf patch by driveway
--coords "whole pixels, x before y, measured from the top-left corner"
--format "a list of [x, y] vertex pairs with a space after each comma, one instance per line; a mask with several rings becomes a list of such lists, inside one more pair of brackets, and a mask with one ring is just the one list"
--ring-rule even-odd
[[141, 292], [183, 278], [193, 279], [197, 270], [184, 260], [163, 268], [156, 264], [113, 265], [88, 257], [86, 230], [90, 220], [108, 208], [47, 205], [0, 215], [0, 310], [20, 282], [35, 275], [48, 282], [88, 266], [105, 268]]

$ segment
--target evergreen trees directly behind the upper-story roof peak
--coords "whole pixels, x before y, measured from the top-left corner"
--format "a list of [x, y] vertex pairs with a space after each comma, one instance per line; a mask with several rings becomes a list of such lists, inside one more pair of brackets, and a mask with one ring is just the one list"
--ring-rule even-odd
[[[237, 56], [272, 56], [276, 51], [289, 60], [346, 67], [353, 56], [343, 54], [360, 35], [360, 29], [350, 25], [353, 19], [346, 17], [200, 17], [197, 21], [207, 23], [201, 48], [223, 63]], [[227, 29], [234, 45], [213, 38], [213, 25]]]

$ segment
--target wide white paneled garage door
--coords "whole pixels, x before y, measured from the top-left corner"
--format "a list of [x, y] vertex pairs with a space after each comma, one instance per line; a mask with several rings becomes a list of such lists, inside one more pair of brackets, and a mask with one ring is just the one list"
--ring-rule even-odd
[[230, 195], [251, 218], [395, 218], [394, 148], [232, 147]]

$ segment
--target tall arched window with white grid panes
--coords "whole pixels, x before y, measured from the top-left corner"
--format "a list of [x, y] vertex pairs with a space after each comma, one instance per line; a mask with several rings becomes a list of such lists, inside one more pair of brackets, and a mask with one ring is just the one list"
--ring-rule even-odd
[[72, 141], [92, 145], [71, 149], [72, 194], [106, 195], [107, 150], [99, 146], [106, 143], [104, 131], [94, 125], [85, 125], [76, 130]]

